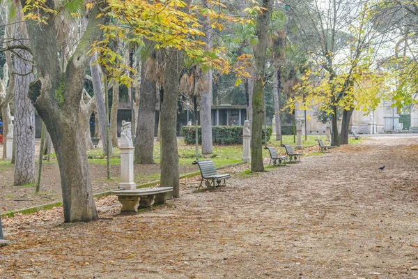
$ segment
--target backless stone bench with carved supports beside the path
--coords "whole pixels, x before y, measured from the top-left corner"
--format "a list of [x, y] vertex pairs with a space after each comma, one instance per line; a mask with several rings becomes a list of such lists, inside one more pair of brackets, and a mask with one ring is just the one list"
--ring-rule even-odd
[[[122, 204], [122, 211], [134, 211], [145, 209], [153, 204], [164, 204], [165, 200], [172, 197], [173, 187], [149, 187], [136, 190], [114, 190], [111, 195], [118, 196]], [[137, 204], [139, 206], [137, 208]]]

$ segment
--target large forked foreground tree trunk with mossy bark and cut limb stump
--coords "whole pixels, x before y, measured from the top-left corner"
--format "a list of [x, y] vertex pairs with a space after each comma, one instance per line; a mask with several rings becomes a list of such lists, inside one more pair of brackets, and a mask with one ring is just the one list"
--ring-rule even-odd
[[[22, 0], [24, 4], [25, 1]], [[54, 1], [47, 1], [50, 8]], [[79, 104], [82, 98], [84, 76], [93, 41], [102, 35], [98, 6], [93, 8], [83, 37], [79, 40], [65, 72], [60, 70], [54, 17], [40, 26], [28, 22], [29, 39], [38, 78], [29, 88], [29, 98], [45, 122], [56, 151], [61, 175], [64, 222], [87, 222], [98, 219], [93, 190], [88, 172], [86, 144], [79, 124]]]

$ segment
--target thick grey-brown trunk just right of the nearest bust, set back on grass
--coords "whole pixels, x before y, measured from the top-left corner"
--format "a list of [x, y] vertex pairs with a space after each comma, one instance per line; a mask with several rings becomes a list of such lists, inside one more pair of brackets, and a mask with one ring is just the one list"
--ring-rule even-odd
[[[150, 45], [150, 44], [147, 44]], [[153, 53], [151, 53], [153, 55]], [[155, 164], [154, 162], [154, 130], [155, 103], [157, 87], [155, 82], [146, 78], [146, 67], [141, 67], [141, 88], [139, 92], [139, 110], [137, 126], [137, 142], [135, 144], [135, 164]]]

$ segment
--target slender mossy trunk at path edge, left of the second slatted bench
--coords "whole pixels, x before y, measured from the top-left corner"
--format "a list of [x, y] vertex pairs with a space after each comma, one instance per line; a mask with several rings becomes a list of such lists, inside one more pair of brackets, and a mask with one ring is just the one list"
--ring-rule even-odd
[[258, 45], [254, 47], [255, 73], [254, 92], [252, 98], [252, 130], [251, 130], [251, 172], [263, 172], [263, 77], [268, 43], [268, 23], [270, 22], [272, 0], [263, 0], [263, 13], [257, 16]]

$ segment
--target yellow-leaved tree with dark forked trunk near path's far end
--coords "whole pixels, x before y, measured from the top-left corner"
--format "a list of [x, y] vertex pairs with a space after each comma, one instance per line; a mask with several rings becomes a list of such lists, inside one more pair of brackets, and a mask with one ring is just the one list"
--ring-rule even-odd
[[[307, 109], [321, 104], [332, 114], [332, 144], [348, 143], [348, 128], [356, 107], [355, 84], [373, 72], [376, 46], [380, 45], [376, 24], [368, 10], [371, 1], [301, 1], [295, 4], [292, 18], [302, 37], [312, 66], [304, 71], [298, 98]], [[299, 14], [299, 11], [304, 11]], [[305, 27], [311, 27], [309, 29]], [[293, 101], [293, 100], [291, 100]], [[343, 112], [341, 133], [338, 112]]]

